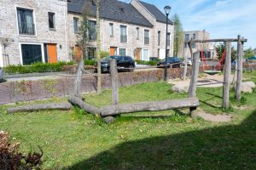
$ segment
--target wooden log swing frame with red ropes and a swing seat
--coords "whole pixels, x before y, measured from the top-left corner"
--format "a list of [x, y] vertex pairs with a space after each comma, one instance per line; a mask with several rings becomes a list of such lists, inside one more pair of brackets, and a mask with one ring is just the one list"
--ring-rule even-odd
[[[223, 102], [222, 107], [224, 109], [228, 109], [230, 107], [230, 74], [231, 74], [231, 42], [237, 42], [237, 67], [236, 67], [236, 100], [241, 99], [241, 80], [242, 80], [242, 56], [243, 56], [243, 43], [247, 42], [247, 39], [241, 37], [240, 35], [237, 37], [237, 39], [209, 39], [209, 40], [193, 40], [191, 39], [189, 42], [189, 48], [190, 53], [192, 56], [192, 44], [196, 42], [224, 42], [226, 45], [226, 48], [224, 50], [224, 55], [219, 61], [218, 66], [224, 67], [224, 81], [223, 82], [213, 82], [213, 83], [223, 83]], [[195, 54], [193, 58], [198, 58], [197, 55], [199, 55], [200, 52]], [[195, 62], [198, 60], [193, 59], [193, 65], [196, 65], [198, 62]], [[198, 67], [198, 65], [196, 65]], [[193, 71], [197, 70], [198, 68], [193, 67]], [[219, 71], [219, 68], [215, 68], [215, 70], [205, 70], [205, 73], [209, 75], [217, 74]], [[192, 74], [192, 78], [195, 78], [195, 75]], [[194, 82], [197, 83], [197, 82]], [[201, 84], [201, 85], [208, 85], [212, 83], [207, 84]], [[195, 84], [194, 84], [195, 85]], [[191, 84], [190, 84], [191, 86]]]

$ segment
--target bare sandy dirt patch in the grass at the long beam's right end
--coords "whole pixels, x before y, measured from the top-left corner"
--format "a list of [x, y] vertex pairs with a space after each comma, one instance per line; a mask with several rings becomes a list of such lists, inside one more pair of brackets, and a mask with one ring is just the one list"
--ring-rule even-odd
[[206, 113], [205, 111], [198, 111], [196, 116], [200, 116], [204, 120], [210, 122], [230, 122], [232, 119], [232, 116], [230, 115], [212, 115]]

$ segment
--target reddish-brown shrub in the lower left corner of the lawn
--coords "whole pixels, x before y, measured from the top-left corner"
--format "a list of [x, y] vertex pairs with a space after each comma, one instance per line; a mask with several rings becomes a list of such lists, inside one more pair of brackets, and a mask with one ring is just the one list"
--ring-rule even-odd
[[30, 151], [26, 156], [20, 153], [20, 144], [11, 144], [9, 134], [0, 132], [0, 169], [40, 169], [42, 166], [41, 154]]

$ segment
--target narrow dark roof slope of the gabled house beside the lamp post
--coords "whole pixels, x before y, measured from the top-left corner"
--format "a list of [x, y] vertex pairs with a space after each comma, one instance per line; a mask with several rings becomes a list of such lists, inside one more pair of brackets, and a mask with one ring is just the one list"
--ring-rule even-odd
[[[166, 23], [166, 14], [163, 14], [159, 8], [155, 7], [153, 4], [144, 3], [143, 1], [139, 1], [143, 5], [144, 8], [147, 8], [148, 11], [154, 15], [156, 21]], [[168, 20], [169, 24], [173, 25], [172, 20]]]

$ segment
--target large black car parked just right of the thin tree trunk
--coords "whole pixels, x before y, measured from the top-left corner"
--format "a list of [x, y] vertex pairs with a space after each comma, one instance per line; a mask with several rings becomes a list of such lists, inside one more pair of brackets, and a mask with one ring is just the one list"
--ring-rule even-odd
[[102, 59], [101, 61], [102, 72], [109, 72], [110, 59], [116, 59], [118, 71], [134, 71], [135, 61], [131, 58], [131, 56], [112, 55], [106, 59]]

